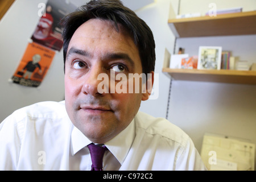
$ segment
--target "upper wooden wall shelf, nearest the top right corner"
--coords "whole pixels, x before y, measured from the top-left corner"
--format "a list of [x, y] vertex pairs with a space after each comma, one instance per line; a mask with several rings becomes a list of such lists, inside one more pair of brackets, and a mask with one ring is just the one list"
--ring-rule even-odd
[[256, 11], [169, 19], [176, 38], [256, 34]]

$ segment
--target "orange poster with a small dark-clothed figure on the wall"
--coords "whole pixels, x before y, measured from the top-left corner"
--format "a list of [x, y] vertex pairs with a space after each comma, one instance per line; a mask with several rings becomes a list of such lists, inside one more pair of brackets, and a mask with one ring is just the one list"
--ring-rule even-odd
[[23, 86], [38, 87], [52, 63], [55, 51], [28, 43], [27, 49], [12, 78], [13, 82]]

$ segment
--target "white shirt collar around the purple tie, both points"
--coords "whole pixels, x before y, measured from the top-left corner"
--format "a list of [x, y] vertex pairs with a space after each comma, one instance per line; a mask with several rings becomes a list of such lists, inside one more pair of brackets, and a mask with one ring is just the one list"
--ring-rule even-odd
[[[134, 138], [135, 138], [135, 122], [133, 119], [133, 121], [131, 121], [130, 125], [128, 125], [125, 130], [121, 131], [121, 133], [119, 133], [117, 136], [115, 136], [114, 138], [106, 142], [105, 146], [109, 149], [109, 151], [115, 156], [115, 158], [117, 158], [119, 163], [122, 165], [123, 161], [125, 160], [131, 148], [131, 144], [133, 144]], [[72, 155], [75, 155], [82, 148], [92, 143], [75, 126], [73, 127], [73, 130], [72, 130], [71, 141], [72, 141]]]

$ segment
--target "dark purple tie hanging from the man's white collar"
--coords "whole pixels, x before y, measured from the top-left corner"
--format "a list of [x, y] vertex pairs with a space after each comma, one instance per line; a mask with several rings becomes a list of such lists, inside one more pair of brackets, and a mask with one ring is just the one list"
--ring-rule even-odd
[[88, 148], [90, 157], [92, 158], [92, 169], [90, 171], [103, 171], [102, 160], [104, 152], [108, 150], [108, 148], [106, 148], [106, 146], [100, 147], [93, 143], [89, 144]]

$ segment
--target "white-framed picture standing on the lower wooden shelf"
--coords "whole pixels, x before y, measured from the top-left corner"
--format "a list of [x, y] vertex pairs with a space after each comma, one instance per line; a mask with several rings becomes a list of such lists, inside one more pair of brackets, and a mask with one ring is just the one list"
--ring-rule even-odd
[[199, 47], [197, 69], [221, 69], [222, 47]]

